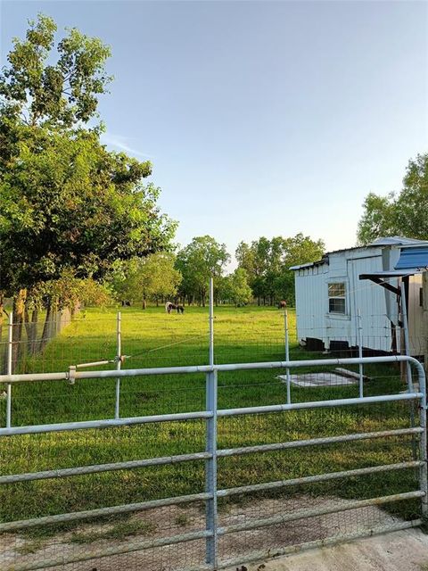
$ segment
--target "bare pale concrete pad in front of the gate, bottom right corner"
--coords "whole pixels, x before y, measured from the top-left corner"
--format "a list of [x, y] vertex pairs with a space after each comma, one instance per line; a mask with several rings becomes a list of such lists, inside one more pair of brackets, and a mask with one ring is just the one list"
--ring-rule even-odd
[[[428, 571], [428, 535], [419, 529], [376, 535], [236, 566], [233, 571]], [[232, 571], [232, 569], [230, 569]]]

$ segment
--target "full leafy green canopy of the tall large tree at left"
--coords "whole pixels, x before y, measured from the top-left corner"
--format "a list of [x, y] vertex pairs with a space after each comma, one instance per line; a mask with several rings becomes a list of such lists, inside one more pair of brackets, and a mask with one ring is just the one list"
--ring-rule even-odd
[[75, 292], [114, 261], [168, 250], [176, 228], [144, 184], [150, 162], [100, 142], [110, 48], [77, 29], [55, 46], [55, 31], [47, 16], [30, 21], [0, 74], [0, 315], [10, 295], [17, 320], [37, 303], [49, 315], [70, 277]]

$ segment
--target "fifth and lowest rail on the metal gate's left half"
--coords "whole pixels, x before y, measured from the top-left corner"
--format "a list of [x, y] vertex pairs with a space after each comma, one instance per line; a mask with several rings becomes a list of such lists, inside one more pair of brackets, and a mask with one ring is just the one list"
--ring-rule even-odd
[[78, 563], [80, 561], [89, 561], [91, 559], [102, 559], [104, 557], [111, 557], [112, 555], [120, 555], [124, 553], [132, 553], [134, 551], [148, 550], [156, 547], [164, 547], [166, 545], [175, 545], [177, 543], [194, 542], [201, 540], [210, 535], [207, 531], [192, 532], [190, 534], [171, 535], [170, 537], [160, 537], [158, 539], [147, 539], [141, 542], [126, 542], [121, 545], [111, 547], [101, 547], [95, 550], [82, 550], [80, 553], [64, 557], [58, 555], [51, 559], [44, 561], [31, 561], [21, 565], [12, 564], [6, 567], [4, 571], [33, 571], [35, 569], [48, 569], [49, 567], [65, 566], [71, 563]]

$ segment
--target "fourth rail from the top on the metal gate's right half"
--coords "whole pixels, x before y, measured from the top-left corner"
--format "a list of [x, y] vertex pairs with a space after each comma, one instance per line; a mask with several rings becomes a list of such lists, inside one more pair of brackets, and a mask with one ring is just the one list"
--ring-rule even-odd
[[265, 490], [273, 490], [284, 488], [292, 485], [317, 484], [319, 482], [328, 482], [330, 480], [339, 480], [341, 478], [349, 478], [352, 476], [365, 476], [366, 474], [378, 474], [380, 472], [390, 472], [393, 470], [405, 470], [408, 468], [419, 468], [424, 462], [412, 460], [409, 462], [401, 462], [399, 464], [383, 464], [382, 466], [373, 466], [369, 468], [356, 468], [355, 470], [343, 470], [342, 472], [330, 472], [327, 474], [319, 474], [317, 476], [303, 476], [299, 478], [291, 478], [290, 480], [277, 480], [276, 482], [266, 482], [264, 484], [242, 485], [236, 488], [227, 488], [226, 490], [218, 490], [218, 498], [232, 496], [239, 493], [247, 492], [264, 492]]

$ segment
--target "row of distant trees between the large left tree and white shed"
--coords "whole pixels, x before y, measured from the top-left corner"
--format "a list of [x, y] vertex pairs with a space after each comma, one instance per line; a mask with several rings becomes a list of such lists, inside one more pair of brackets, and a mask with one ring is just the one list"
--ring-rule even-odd
[[226, 274], [231, 260], [226, 244], [212, 236], [194, 237], [174, 252], [153, 253], [145, 258], [119, 261], [107, 281], [118, 299], [141, 302], [177, 302], [205, 306], [210, 277], [214, 278], [216, 303], [273, 305], [280, 300], [294, 303], [291, 266], [319, 260], [325, 251], [322, 240], [298, 234], [276, 236], [239, 244], [235, 252], [238, 267]]

